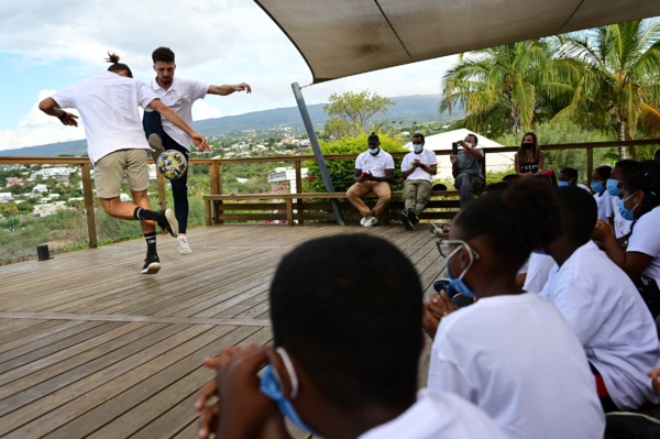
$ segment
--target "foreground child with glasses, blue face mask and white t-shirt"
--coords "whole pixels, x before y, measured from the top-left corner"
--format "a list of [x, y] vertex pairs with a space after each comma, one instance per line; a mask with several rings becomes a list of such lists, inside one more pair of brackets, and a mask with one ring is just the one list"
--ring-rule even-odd
[[552, 186], [520, 178], [471, 201], [438, 249], [450, 285], [477, 300], [425, 306], [433, 337], [428, 386], [473, 402], [509, 439], [602, 438], [605, 419], [586, 356], [561, 314], [516, 284], [532, 250], [559, 233]]

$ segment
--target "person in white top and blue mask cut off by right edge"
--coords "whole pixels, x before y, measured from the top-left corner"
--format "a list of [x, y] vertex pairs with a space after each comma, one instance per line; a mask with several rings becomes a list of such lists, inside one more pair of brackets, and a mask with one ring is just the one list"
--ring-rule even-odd
[[660, 175], [642, 171], [628, 177], [623, 195], [615, 207], [627, 220], [632, 220], [628, 245], [615, 239], [612, 226], [598, 221], [594, 240], [602, 241], [607, 256], [640, 290], [653, 317], [660, 316]]

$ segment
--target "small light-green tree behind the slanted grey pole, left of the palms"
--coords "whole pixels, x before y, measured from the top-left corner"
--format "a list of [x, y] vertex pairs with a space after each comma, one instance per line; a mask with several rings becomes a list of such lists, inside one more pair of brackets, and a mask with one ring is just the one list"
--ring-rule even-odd
[[323, 111], [329, 117], [324, 131], [336, 139], [360, 135], [366, 131], [371, 118], [377, 113], [385, 113], [394, 103], [392, 99], [369, 90], [359, 94], [332, 94], [328, 103], [323, 106]]

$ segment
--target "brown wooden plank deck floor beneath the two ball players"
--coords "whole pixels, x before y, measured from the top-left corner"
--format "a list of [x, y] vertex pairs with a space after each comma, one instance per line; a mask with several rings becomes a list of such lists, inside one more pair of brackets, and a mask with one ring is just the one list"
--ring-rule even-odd
[[1, 266], [0, 437], [196, 438], [202, 356], [268, 343], [280, 257], [339, 233], [388, 239], [432, 290], [443, 262], [424, 227], [197, 228], [188, 256], [158, 235], [154, 276], [139, 274], [142, 240]]

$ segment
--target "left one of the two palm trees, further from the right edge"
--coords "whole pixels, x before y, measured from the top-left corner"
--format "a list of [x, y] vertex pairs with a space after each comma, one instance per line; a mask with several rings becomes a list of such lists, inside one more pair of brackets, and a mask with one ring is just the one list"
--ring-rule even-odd
[[558, 102], [570, 102], [580, 78], [579, 63], [557, 58], [561, 40], [540, 39], [461, 54], [442, 78], [440, 111], [462, 106], [468, 117], [458, 127], [504, 133], [519, 132]]

